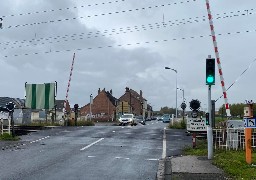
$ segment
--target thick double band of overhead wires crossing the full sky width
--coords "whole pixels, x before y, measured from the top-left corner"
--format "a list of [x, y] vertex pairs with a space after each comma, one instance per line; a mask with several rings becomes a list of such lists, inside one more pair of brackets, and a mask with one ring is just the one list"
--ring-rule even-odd
[[[251, 9], [251, 11], [254, 9]], [[243, 11], [248, 11], [248, 10], [243, 10]], [[247, 15], [245, 14], [243, 11], [232, 11], [229, 13], [222, 13], [222, 14], [218, 14], [219, 16], [216, 17], [216, 19], [225, 19], [225, 18], [232, 18], [232, 17], [239, 17], [239, 16], [244, 16]], [[236, 13], [236, 14], [235, 14]], [[255, 14], [255, 12], [249, 12], [248, 15], [253, 15]], [[222, 15], [222, 16], [220, 16]], [[95, 32], [88, 32], [86, 33], [74, 33], [74, 34], [65, 34], [63, 36], [50, 36], [50, 37], [46, 37], [46, 38], [34, 38], [34, 39], [30, 39], [30, 40], [22, 40], [22, 41], [7, 41], [7, 42], [0, 42], [0, 44], [5, 45], [5, 48], [3, 48], [3, 50], [7, 50], [7, 49], [13, 49], [13, 48], [21, 48], [21, 47], [28, 47], [28, 46], [36, 46], [36, 45], [43, 45], [46, 44], [45, 41], [47, 41], [48, 43], [59, 43], [59, 42], [66, 42], [66, 41], [70, 41], [70, 40], [82, 40], [82, 39], [86, 39], [86, 38], [96, 38], [96, 37], [100, 37], [100, 36], [106, 36], [106, 35], [113, 35], [113, 34], [121, 34], [121, 33], [131, 33], [131, 32], [139, 32], [139, 31], [146, 31], [146, 30], [152, 30], [154, 28], [166, 28], [168, 26], [179, 26], [179, 25], [185, 25], [187, 23], [199, 23], [199, 22], [203, 22], [206, 21], [207, 17], [206, 16], [202, 16], [202, 17], [194, 17], [194, 18], [187, 18], [187, 19], [176, 19], [176, 20], [172, 20], [172, 21], [168, 21], [166, 22], [164, 25], [161, 25], [160, 23], [156, 22], [156, 23], [151, 23], [151, 24], [142, 24], [140, 26], [133, 26], [133, 27], [125, 27], [125, 28], [116, 28], [116, 29], [111, 29], [111, 30], [103, 30], [103, 31], [95, 31]], [[94, 34], [94, 35], [93, 35]], [[86, 37], [85, 37], [86, 36]], [[71, 38], [71, 39], [69, 39]], [[28, 43], [28, 44], [26, 44]], [[10, 48], [8, 48], [9, 45], [18, 45], [18, 46], [12, 46]], [[7, 47], [6, 47], [7, 46]]]

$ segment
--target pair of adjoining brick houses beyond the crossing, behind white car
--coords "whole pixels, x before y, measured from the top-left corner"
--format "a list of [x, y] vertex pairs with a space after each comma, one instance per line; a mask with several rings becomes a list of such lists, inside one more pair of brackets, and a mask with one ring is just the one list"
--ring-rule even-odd
[[[143, 107], [143, 104], [146, 106]], [[81, 107], [81, 117], [90, 117], [90, 108], [92, 119], [97, 121], [113, 121], [123, 113], [142, 115], [143, 110], [145, 115], [150, 117], [153, 112], [152, 106], [143, 97], [142, 90], [138, 93], [128, 87], [125, 88], [124, 94], [118, 99], [113, 96], [112, 90], [106, 91], [105, 88], [103, 90], [99, 88], [93, 103], [91, 105], [88, 103]]]

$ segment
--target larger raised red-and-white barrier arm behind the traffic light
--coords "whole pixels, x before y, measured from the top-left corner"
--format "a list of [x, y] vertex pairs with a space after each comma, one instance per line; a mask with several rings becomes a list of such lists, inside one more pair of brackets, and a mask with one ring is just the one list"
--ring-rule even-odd
[[209, 19], [209, 24], [210, 24], [210, 29], [211, 29], [212, 40], [213, 40], [214, 52], [215, 52], [215, 56], [217, 59], [217, 65], [218, 65], [218, 70], [219, 70], [219, 75], [220, 75], [222, 92], [223, 92], [223, 96], [224, 96], [226, 113], [227, 113], [227, 116], [230, 117], [231, 114], [230, 114], [230, 109], [229, 109], [229, 104], [228, 104], [227, 91], [225, 88], [223, 72], [222, 72], [221, 63], [220, 63], [220, 56], [219, 56], [217, 40], [216, 40], [213, 21], [212, 21], [212, 14], [211, 14], [211, 10], [210, 10], [209, 0], [206, 0], [206, 7], [207, 7], [207, 12], [208, 12], [208, 19]]

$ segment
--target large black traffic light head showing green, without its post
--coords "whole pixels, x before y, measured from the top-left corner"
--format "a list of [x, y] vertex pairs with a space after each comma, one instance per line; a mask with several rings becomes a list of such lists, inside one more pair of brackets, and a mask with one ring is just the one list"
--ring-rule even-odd
[[215, 59], [206, 59], [206, 85], [215, 84]]

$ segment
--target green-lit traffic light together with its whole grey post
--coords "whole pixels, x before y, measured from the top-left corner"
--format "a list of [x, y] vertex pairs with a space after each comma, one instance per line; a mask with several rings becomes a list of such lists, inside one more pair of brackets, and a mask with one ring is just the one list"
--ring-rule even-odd
[[206, 85], [208, 85], [208, 113], [206, 115], [207, 125], [207, 147], [208, 159], [213, 158], [213, 132], [212, 132], [212, 101], [211, 86], [215, 85], [215, 59], [209, 55], [206, 59]]

